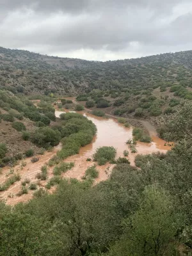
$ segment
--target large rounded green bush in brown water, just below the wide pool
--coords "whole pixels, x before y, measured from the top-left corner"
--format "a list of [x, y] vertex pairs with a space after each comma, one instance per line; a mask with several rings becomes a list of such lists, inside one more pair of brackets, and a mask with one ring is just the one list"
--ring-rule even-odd
[[97, 148], [94, 154], [94, 161], [98, 161], [99, 165], [105, 164], [108, 161], [115, 159], [116, 149], [114, 147], [101, 147]]

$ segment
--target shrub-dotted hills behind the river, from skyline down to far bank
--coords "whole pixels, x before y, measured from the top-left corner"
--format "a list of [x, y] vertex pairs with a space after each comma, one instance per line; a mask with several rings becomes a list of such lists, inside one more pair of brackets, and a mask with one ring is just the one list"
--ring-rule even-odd
[[[192, 51], [117, 61], [86, 61], [0, 47], [0, 89], [26, 95], [107, 100], [105, 111], [139, 118], [169, 115], [192, 99]], [[102, 108], [102, 104], [99, 108]]]

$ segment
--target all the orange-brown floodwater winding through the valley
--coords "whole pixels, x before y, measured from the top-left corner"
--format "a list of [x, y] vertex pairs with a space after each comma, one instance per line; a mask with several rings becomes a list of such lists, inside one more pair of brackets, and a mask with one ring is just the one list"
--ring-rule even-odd
[[[56, 116], [59, 117], [63, 111], [56, 110]], [[165, 141], [161, 140], [156, 136], [152, 136], [152, 143], [140, 143], [136, 145], [138, 153], [132, 154], [128, 145], [126, 144], [127, 140], [132, 140], [132, 127], [126, 128], [123, 124], [118, 124], [117, 120], [114, 118], [102, 118], [93, 116], [90, 113], [82, 113], [89, 120], [97, 126], [97, 134], [94, 136], [92, 143], [82, 147], [79, 154], [76, 156], [71, 156], [65, 159], [65, 162], [74, 162], [75, 166], [72, 170], [69, 170], [67, 173], [63, 173], [63, 177], [66, 178], [76, 178], [81, 180], [83, 177], [86, 168], [95, 164], [93, 161], [86, 161], [87, 158], [93, 159], [93, 154], [96, 149], [103, 146], [113, 146], [116, 148], [116, 157], [123, 157], [124, 150], [129, 151], [129, 156], [127, 159], [131, 162], [131, 165], [134, 166], [134, 158], [137, 154], [151, 154], [152, 152], [163, 152], [171, 148], [165, 146]], [[149, 131], [150, 132], [150, 131]], [[22, 162], [18, 166], [14, 167], [14, 174], [19, 173], [21, 180], [13, 184], [7, 191], [0, 192], [1, 199], [6, 200], [7, 204], [17, 204], [18, 202], [26, 202], [33, 197], [33, 191], [29, 191], [28, 194], [17, 196], [16, 194], [20, 191], [22, 180], [28, 178], [31, 182], [38, 182], [36, 179], [36, 174], [40, 172], [41, 167], [48, 163], [49, 159], [56, 154], [58, 150], [61, 149], [61, 145], [55, 147], [52, 152], [45, 152], [43, 156], [39, 156], [40, 160], [36, 163], [31, 163], [31, 158], [25, 159], [26, 166], [22, 166]], [[53, 176], [53, 168], [48, 168], [48, 177], [49, 179]], [[99, 178], [95, 180], [95, 184], [108, 179], [111, 170], [113, 169], [113, 164], [106, 164], [104, 166], [97, 166], [99, 171]], [[3, 183], [6, 179], [12, 176], [8, 175], [10, 172], [9, 168], [3, 168], [3, 172], [0, 175], [0, 184]], [[47, 180], [41, 181], [38, 183], [38, 187], [44, 187], [47, 184]], [[54, 188], [53, 188], [54, 189]], [[52, 192], [52, 190], [50, 191]]]

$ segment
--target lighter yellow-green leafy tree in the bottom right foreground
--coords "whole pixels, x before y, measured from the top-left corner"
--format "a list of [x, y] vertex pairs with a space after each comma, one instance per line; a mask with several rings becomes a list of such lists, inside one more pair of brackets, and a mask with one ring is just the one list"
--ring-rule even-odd
[[124, 235], [109, 255], [175, 255], [173, 202], [164, 189], [146, 187], [138, 211], [124, 221], [124, 227]]

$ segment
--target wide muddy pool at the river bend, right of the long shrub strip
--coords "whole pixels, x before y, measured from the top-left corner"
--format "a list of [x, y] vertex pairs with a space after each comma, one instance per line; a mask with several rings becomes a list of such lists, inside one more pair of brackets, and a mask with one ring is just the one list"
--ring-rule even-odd
[[[56, 116], [59, 117], [63, 113], [62, 111], [56, 111]], [[81, 113], [81, 112], [79, 112]], [[92, 158], [93, 154], [99, 147], [113, 146], [116, 148], [116, 157], [124, 157], [124, 150], [129, 151], [127, 159], [134, 166], [134, 158], [137, 154], [151, 154], [152, 152], [163, 152], [166, 153], [171, 147], [165, 146], [165, 141], [160, 138], [153, 136], [152, 143], [141, 143], [138, 142], [136, 145], [136, 154], [131, 153], [127, 140], [132, 140], [132, 127], [126, 128], [123, 124], [119, 124], [115, 118], [102, 118], [91, 115], [90, 113], [84, 113], [89, 120], [97, 126], [97, 134], [93, 138], [92, 143], [82, 147], [79, 154], [76, 156], [68, 157], [67, 162], [74, 161], [75, 167], [65, 173], [63, 177], [72, 177], [81, 179], [84, 175], [86, 168], [91, 166], [93, 163], [86, 161], [87, 158]], [[99, 170], [99, 178], [96, 182], [108, 179], [108, 175], [113, 168], [113, 164], [106, 164], [105, 166], [97, 166]]]

